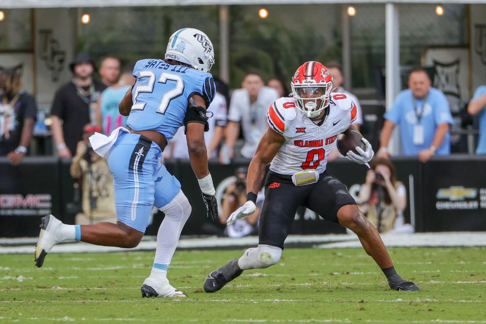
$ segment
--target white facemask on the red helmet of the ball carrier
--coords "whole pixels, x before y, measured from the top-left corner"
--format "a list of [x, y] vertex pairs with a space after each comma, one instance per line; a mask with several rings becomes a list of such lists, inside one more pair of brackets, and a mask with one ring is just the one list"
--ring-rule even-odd
[[297, 109], [308, 118], [318, 117], [322, 110], [329, 106], [333, 83], [295, 84], [291, 83]]

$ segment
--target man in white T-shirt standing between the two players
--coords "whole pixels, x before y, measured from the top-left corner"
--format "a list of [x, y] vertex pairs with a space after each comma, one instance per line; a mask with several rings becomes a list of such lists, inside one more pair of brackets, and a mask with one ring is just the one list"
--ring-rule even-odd
[[262, 76], [258, 71], [247, 72], [241, 88], [235, 90], [231, 96], [226, 128], [226, 147], [229, 150], [228, 155], [233, 157], [233, 148], [239, 134], [239, 123], [241, 123], [245, 145], [240, 153], [246, 158], [252, 158], [260, 138], [268, 128], [266, 114], [270, 105], [278, 99], [278, 93], [275, 89], [264, 86]]

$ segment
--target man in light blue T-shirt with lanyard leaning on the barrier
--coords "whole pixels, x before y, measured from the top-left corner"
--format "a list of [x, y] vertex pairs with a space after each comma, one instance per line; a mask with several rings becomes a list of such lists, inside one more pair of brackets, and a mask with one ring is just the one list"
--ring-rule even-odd
[[446, 96], [431, 87], [423, 68], [410, 73], [408, 85], [409, 89], [398, 94], [393, 107], [384, 115], [386, 120], [381, 130], [378, 157], [389, 157], [387, 146], [395, 125], [400, 126], [404, 155], [418, 155], [423, 163], [434, 154], [449, 155], [449, 128], [453, 120]]

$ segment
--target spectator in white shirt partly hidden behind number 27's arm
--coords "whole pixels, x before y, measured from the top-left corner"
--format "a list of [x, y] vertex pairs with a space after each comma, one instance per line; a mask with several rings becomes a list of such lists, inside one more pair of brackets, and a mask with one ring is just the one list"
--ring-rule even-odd
[[[208, 157], [217, 157], [217, 150], [224, 135], [224, 128], [226, 127], [226, 99], [220, 93], [216, 93], [213, 102], [209, 105], [209, 112], [213, 116], [208, 119], [209, 131], [204, 133], [204, 141], [208, 151]], [[208, 114], [211, 116], [211, 114]], [[165, 158], [182, 158], [189, 159], [189, 151], [187, 149], [187, 140], [184, 134], [184, 127], [179, 128], [174, 137], [169, 141], [169, 150], [165, 152]], [[166, 151], [166, 150], [164, 150]]]

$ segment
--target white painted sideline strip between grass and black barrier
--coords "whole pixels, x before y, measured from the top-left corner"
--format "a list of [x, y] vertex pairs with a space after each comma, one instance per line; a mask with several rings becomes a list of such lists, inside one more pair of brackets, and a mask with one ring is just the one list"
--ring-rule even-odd
[[[486, 247], [486, 232], [440, 232], [414, 234], [383, 234], [381, 235], [387, 247]], [[1, 238], [0, 254], [31, 254], [37, 238]], [[247, 236], [241, 238], [203, 237], [182, 238], [178, 249], [243, 249], [256, 246], [258, 237]], [[139, 246], [133, 249], [102, 247], [84, 242], [72, 242], [57, 245], [51, 253], [101, 253], [124, 251], [155, 250], [154, 236], [145, 237]], [[361, 244], [356, 235], [289, 235], [286, 248], [360, 248]]]

